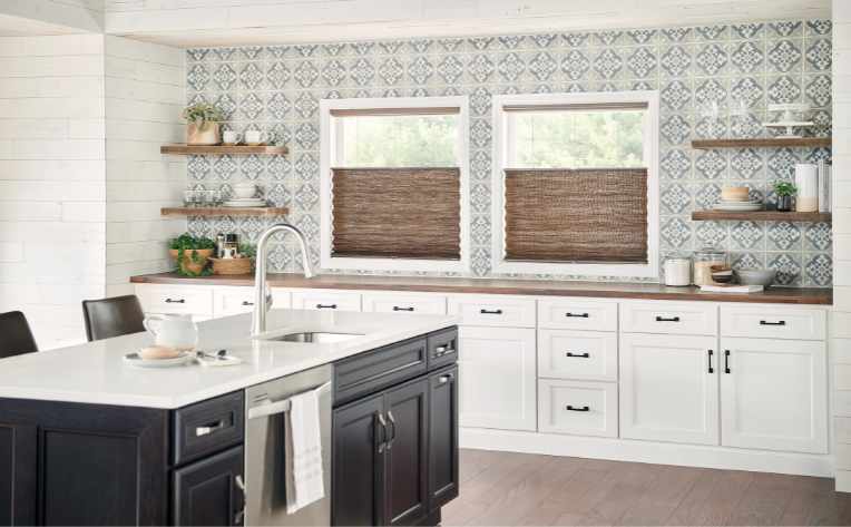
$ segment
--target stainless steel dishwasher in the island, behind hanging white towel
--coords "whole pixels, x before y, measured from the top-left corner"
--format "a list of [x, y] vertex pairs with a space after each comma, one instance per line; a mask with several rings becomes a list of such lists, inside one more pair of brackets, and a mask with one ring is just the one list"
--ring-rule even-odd
[[[332, 372], [323, 365], [245, 390], [245, 525], [331, 525]], [[287, 515], [284, 419], [288, 399], [307, 390], [320, 390], [325, 497]]]

